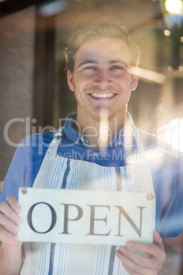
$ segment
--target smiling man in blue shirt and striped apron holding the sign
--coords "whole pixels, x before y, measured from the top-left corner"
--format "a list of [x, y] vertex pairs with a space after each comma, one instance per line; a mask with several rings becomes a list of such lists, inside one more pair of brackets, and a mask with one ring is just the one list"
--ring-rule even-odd
[[[160, 158], [162, 154], [157, 153], [154, 136], [139, 135], [127, 114], [130, 92], [138, 83], [137, 75], [131, 75], [130, 68], [137, 66], [138, 60], [137, 46], [130, 40], [128, 32], [118, 25], [89, 24], [72, 36], [66, 62], [68, 85], [78, 103], [77, 114], [68, 116], [61, 131], [27, 137], [16, 152], [1, 194], [1, 274], [18, 274], [21, 269], [21, 274], [26, 275], [124, 274], [124, 268], [129, 274], [160, 272], [165, 261], [160, 235], [176, 237], [182, 231], [179, 215], [182, 211], [182, 173], [178, 173], [176, 179], [169, 173], [167, 179], [166, 173], [180, 166], [180, 161], [172, 157]], [[126, 140], [126, 125], [132, 133], [130, 142]], [[107, 129], [107, 133], [102, 134], [101, 129]], [[145, 154], [144, 140], [158, 154], [156, 161], [160, 163], [152, 171], [154, 174], [145, 163], [146, 157], [143, 163], [141, 159], [130, 163], [131, 153]], [[49, 157], [49, 152], [56, 153], [55, 161]], [[128, 157], [124, 157], [126, 153]], [[154, 159], [150, 162], [154, 163]], [[161, 173], [165, 164], [169, 170]], [[156, 231], [160, 235], [154, 231], [153, 244], [128, 241], [128, 246], [119, 244], [119, 248], [37, 244], [33, 260], [24, 248], [23, 263], [22, 243], [16, 237], [21, 222], [17, 200], [20, 186], [126, 192], [155, 190]], [[166, 189], [168, 192], [163, 197]], [[129, 247], [145, 254], [138, 254]]]

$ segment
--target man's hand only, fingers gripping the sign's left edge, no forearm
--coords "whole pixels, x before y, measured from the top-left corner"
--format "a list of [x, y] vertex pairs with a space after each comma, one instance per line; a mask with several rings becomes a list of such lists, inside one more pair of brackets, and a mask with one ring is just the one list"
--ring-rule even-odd
[[7, 202], [0, 203], [0, 240], [8, 246], [16, 246], [18, 224], [21, 222], [18, 214], [21, 209], [14, 196], [10, 195], [6, 200]]

